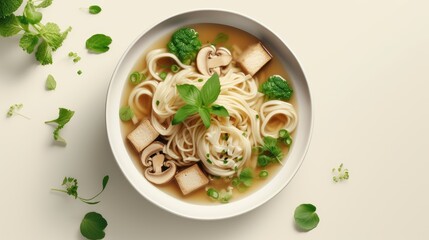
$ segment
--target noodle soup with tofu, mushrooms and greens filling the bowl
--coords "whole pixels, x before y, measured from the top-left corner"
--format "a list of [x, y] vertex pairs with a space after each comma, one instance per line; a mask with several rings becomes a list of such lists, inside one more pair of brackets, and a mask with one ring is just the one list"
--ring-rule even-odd
[[[176, 51], [174, 39], [189, 43], [191, 53]], [[149, 46], [130, 71], [120, 109], [141, 174], [197, 204], [236, 201], [269, 182], [298, 121], [275, 54], [247, 32], [218, 24], [184, 26]]]

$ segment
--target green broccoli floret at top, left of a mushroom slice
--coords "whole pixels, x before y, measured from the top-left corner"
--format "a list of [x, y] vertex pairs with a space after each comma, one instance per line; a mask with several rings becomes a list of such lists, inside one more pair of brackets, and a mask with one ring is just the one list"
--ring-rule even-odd
[[201, 48], [201, 41], [195, 29], [181, 28], [173, 33], [167, 47], [182, 63], [190, 65]]

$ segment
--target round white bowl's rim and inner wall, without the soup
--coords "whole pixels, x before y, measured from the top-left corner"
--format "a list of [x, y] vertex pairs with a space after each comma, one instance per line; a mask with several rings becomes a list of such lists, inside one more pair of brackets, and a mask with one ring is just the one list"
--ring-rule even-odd
[[[216, 23], [242, 29], [258, 39], [267, 48], [272, 49], [286, 68], [293, 82], [294, 94], [298, 105], [298, 127], [295, 130], [293, 145], [287, 154], [287, 161], [275, 177], [265, 186], [237, 201], [221, 205], [198, 205], [185, 202], [168, 195], [149, 183], [125, 147], [118, 111], [120, 99], [128, 74], [145, 52], [147, 46], [178, 28], [196, 23]], [[131, 185], [147, 200], [179, 216], [192, 219], [223, 219], [248, 212], [270, 200], [279, 193], [298, 171], [309, 146], [313, 125], [313, 113], [310, 90], [304, 73], [284, 42], [267, 27], [248, 17], [223, 10], [196, 10], [168, 18], [140, 35], [125, 51], [110, 82], [106, 100], [106, 127], [113, 155], [125, 177]]]

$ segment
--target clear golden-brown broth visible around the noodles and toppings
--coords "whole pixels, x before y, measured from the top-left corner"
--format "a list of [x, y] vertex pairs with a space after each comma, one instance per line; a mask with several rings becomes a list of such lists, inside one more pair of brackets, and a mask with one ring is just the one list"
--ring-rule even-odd
[[[237, 28], [230, 27], [230, 26], [218, 25], [218, 24], [196, 24], [196, 25], [190, 25], [189, 27], [194, 28], [199, 33], [199, 38], [201, 39], [203, 46], [207, 43], [212, 42], [218, 33], [227, 34], [229, 36], [229, 39], [225, 44], [218, 44], [216, 47], [223, 46], [226, 48], [231, 48], [231, 46], [235, 45], [235, 46], [238, 46], [240, 49], [243, 50], [246, 48], [246, 46], [249, 46], [251, 44], [259, 42], [259, 40], [257, 38], [250, 35], [249, 33], [244, 32], [244, 31], [237, 29]], [[157, 41], [155, 44], [148, 47], [148, 51], [152, 50], [152, 49], [156, 49], [156, 48], [165, 48], [168, 41], [170, 40], [170, 38], [171, 38], [171, 34], [163, 37], [162, 39]], [[289, 79], [287, 72], [282, 67], [281, 62], [276, 57], [276, 53], [270, 51], [270, 49], [268, 49], [268, 51], [272, 54], [273, 58], [254, 76], [255, 78], [259, 79], [260, 82], [258, 84], [259, 85], [262, 84], [263, 81], [265, 81], [269, 76], [274, 75], [274, 74], [283, 76], [285, 79], [288, 80], [288, 83], [291, 84], [291, 81]], [[146, 56], [147, 52], [142, 53], [140, 60], [136, 63], [136, 65], [130, 71], [130, 73], [132, 73], [134, 71], [142, 71], [143, 69], [146, 68], [145, 56]], [[160, 65], [162, 65], [162, 64], [170, 64], [170, 63], [169, 62], [160, 63]], [[122, 100], [121, 100], [122, 106], [128, 105], [128, 96], [130, 95], [130, 92], [131, 92], [133, 87], [134, 87], [134, 85], [131, 84], [127, 80], [126, 84], [124, 86]], [[293, 85], [292, 85], [292, 87], [293, 87]], [[149, 103], [148, 99], [142, 99], [142, 100], [143, 101], [146, 100], [145, 102]], [[289, 100], [288, 102], [293, 104], [296, 107], [295, 97], [292, 97], [291, 100]], [[146, 114], [150, 113], [150, 109], [151, 109], [150, 103], [147, 104], [146, 108], [147, 108]], [[139, 117], [144, 117], [144, 116], [139, 116]], [[275, 120], [275, 121], [278, 122], [279, 120]], [[127, 147], [128, 153], [130, 154], [131, 158], [133, 159], [136, 167], [139, 169], [141, 174], [143, 174], [144, 166], [140, 162], [139, 154], [135, 151], [132, 144], [130, 144], [130, 142], [127, 141], [127, 138], [126, 138], [127, 135], [136, 127], [136, 125], [134, 125], [130, 121], [122, 122], [121, 125], [122, 125], [121, 126], [122, 136], [124, 139], [124, 143]], [[282, 147], [282, 150], [283, 150], [283, 154], [284, 154], [283, 156], [286, 156], [287, 152], [288, 152], [288, 148]], [[257, 158], [257, 152], [253, 151], [251, 161], [247, 161], [247, 164], [249, 164], [251, 162], [255, 162], [256, 158]], [[284, 157], [284, 161], [286, 159], [287, 158]], [[283, 161], [283, 163], [284, 163], [284, 161]], [[281, 167], [282, 167], [281, 164], [275, 163], [275, 164], [270, 164], [267, 167], [263, 168], [269, 172], [269, 176], [264, 178], [264, 179], [261, 179], [258, 177], [258, 173], [262, 168], [257, 167], [256, 169], [254, 169], [254, 171], [253, 171], [254, 172], [253, 185], [251, 187], [249, 187], [248, 189], [246, 189], [245, 191], [238, 191], [237, 189], [234, 189], [233, 190], [233, 198], [231, 199], [231, 201], [236, 201], [238, 199], [241, 199], [241, 198], [251, 194], [252, 192], [255, 192], [258, 189], [260, 189], [263, 185], [268, 183], [277, 174], [277, 172], [280, 170]], [[180, 171], [180, 169], [181, 168], [179, 168], [179, 171]], [[201, 167], [201, 169], [204, 171], [204, 168]], [[224, 178], [218, 178], [218, 179], [214, 178], [214, 179], [211, 179], [208, 186], [214, 187], [214, 188], [220, 190], [220, 189], [225, 189], [229, 185], [231, 185], [230, 180], [226, 180]], [[186, 202], [195, 203], [195, 204], [216, 204], [216, 203], [219, 203], [218, 201], [214, 201], [207, 196], [207, 193], [206, 193], [204, 187], [197, 190], [197, 191], [194, 191], [193, 193], [190, 193], [186, 196], [183, 196], [179, 187], [178, 187], [177, 182], [175, 181], [175, 179], [171, 180], [167, 184], [157, 185], [157, 187], [159, 189], [161, 189], [162, 191], [166, 192], [167, 194], [172, 195], [172, 196], [179, 198], [179, 199], [183, 199]]]

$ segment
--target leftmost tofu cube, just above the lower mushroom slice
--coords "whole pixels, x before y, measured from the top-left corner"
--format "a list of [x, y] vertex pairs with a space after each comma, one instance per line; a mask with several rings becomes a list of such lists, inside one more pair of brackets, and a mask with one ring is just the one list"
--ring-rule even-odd
[[148, 119], [144, 119], [140, 125], [128, 134], [128, 140], [133, 144], [137, 152], [143, 151], [159, 136]]

